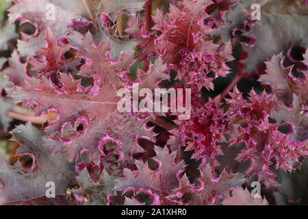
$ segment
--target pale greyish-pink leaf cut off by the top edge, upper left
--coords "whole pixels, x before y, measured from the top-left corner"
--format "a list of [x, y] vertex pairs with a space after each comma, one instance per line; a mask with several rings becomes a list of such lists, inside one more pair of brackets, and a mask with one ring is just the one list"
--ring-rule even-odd
[[[56, 36], [66, 36], [72, 30], [67, 28], [68, 23], [74, 18], [82, 18], [84, 12], [79, 8], [78, 1], [41, 0], [14, 0], [14, 5], [9, 9], [11, 22], [20, 21], [30, 23], [35, 27], [32, 35], [23, 34], [23, 39], [18, 40], [18, 51], [21, 55], [34, 55], [39, 48], [44, 46], [44, 36], [49, 27]], [[74, 7], [75, 6], [75, 7]]]

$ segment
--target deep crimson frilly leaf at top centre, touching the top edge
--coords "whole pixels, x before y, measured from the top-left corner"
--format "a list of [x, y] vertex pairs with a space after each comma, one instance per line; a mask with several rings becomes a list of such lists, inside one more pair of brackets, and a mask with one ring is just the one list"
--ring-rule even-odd
[[198, 88], [213, 89], [207, 73], [213, 70], [216, 77], [228, 75], [226, 62], [232, 61], [233, 57], [230, 42], [220, 47], [212, 40], [205, 40], [213, 31], [203, 23], [209, 17], [205, 8], [210, 3], [208, 0], [185, 0], [181, 8], [170, 5], [169, 14], [164, 16], [157, 10], [151, 33], [147, 33], [144, 26], [136, 26], [137, 21], [131, 18], [127, 32], [135, 36], [142, 49], [138, 59], [159, 55], [170, 68], [175, 67], [179, 79], [196, 84]]

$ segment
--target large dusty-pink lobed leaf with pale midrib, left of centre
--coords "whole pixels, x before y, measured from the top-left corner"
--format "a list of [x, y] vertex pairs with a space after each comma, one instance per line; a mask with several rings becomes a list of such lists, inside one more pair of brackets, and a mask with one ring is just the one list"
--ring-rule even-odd
[[[73, 38], [77, 57], [86, 60], [79, 74], [94, 79], [90, 89], [83, 88], [81, 81], [70, 75], [58, 73], [55, 79], [41, 77], [39, 84], [16, 88], [12, 96], [16, 102], [36, 106], [36, 115], [49, 110], [57, 113], [57, 118], [50, 121], [47, 127], [51, 138], [44, 141], [53, 151], [68, 153], [70, 162], [73, 162], [83, 149], [88, 149], [92, 161], [98, 162], [101, 155], [99, 142], [105, 136], [120, 142], [120, 150], [123, 151], [121, 153], [125, 154], [124, 160], [127, 160], [131, 153], [143, 151], [138, 145], [139, 138], [153, 140], [154, 137], [151, 130], [145, 127], [147, 120], [132, 117], [129, 113], [122, 114], [117, 110], [120, 100], [117, 91], [123, 88], [123, 81], [118, 73], [129, 71], [132, 54], [123, 53], [119, 60], [114, 61], [108, 57], [110, 44], [107, 41], [96, 46], [90, 33], [86, 36], [76, 33], [70, 36], [70, 40]], [[47, 51], [49, 49], [53, 51], [53, 47], [47, 47]], [[73, 60], [68, 61], [70, 62], [75, 63]], [[46, 62], [46, 68], [49, 66], [54, 66], [53, 62]], [[76, 130], [79, 118], [85, 120], [81, 132]], [[68, 136], [65, 136], [68, 127], [75, 131], [68, 131]]]

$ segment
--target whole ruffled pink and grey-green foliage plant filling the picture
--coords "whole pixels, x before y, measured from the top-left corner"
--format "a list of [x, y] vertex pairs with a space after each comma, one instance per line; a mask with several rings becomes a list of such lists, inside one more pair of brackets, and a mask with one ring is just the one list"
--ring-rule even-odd
[[[300, 202], [290, 178], [307, 169], [307, 1], [11, 3], [0, 49], [14, 24], [31, 31], [0, 59], [0, 128], [19, 144], [15, 163], [0, 152], [0, 204]], [[119, 112], [133, 83], [192, 89], [190, 118]]]

